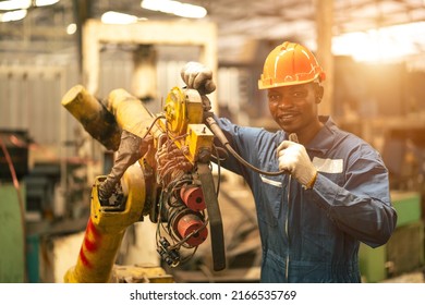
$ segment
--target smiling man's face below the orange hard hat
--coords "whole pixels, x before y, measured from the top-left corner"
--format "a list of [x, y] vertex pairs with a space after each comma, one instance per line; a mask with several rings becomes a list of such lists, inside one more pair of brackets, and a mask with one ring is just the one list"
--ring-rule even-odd
[[268, 90], [270, 113], [282, 130], [299, 133], [317, 124], [317, 84], [307, 83]]

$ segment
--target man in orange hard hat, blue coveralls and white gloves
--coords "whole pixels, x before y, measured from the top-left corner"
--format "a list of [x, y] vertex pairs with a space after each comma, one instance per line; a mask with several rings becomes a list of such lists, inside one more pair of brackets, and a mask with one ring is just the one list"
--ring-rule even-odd
[[[182, 78], [202, 94], [215, 89], [211, 71], [201, 63], [187, 63]], [[360, 242], [382, 245], [396, 227], [379, 154], [318, 115], [324, 80], [313, 53], [286, 41], [269, 53], [258, 81], [282, 130], [271, 133], [216, 118], [243, 159], [267, 172], [284, 171], [262, 174], [233, 157], [221, 163], [253, 192], [262, 282], [361, 282]]]

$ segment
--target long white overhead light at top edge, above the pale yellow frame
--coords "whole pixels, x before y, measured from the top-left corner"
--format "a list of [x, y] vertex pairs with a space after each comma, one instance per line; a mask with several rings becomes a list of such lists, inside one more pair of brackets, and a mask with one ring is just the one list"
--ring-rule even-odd
[[207, 10], [203, 7], [172, 0], [142, 0], [141, 7], [146, 10], [174, 14], [181, 17], [203, 19], [207, 15]]

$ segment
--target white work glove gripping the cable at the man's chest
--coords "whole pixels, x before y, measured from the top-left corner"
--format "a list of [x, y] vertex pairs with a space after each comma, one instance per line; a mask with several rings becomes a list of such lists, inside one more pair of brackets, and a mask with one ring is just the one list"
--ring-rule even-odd
[[304, 188], [312, 188], [317, 170], [313, 166], [305, 147], [291, 141], [283, 141], [278, 149], [279, 170], [288, 171]]

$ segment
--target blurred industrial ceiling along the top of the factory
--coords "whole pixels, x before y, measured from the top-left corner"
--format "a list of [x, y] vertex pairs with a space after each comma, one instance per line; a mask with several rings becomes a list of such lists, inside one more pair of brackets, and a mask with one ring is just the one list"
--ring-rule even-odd
[[[258, 42], [262, 41], [294, 39], [316, 48], [317, 1], [182, 2], [206, 8], [208, 13], [203, 20], [214, 22], [218, 26], [219, 63], [239, 64], [253, 60]], [[392, 25], [425, 23], [424, 0], [337, 0], [329, 3], [333, 3], [333, 37]], [[76, 39], [66, 34], [66, 26], [71, 23], [81, 24], [85, 19], [100, 19], [106, 11], [129, 13], [148, 20], [177, 19], [170, 14], [143, 9], [138, 0], [61, 0], [53, 5], [29, 9], [22, 21], [0, 23], [0, 51], [3, 54], [52, 53], [70, 48]], [[416, 36], [410, 37], [416, 54], [423, 53], [425, 49], [424, 35], [424, 29], [421, 29]]]

